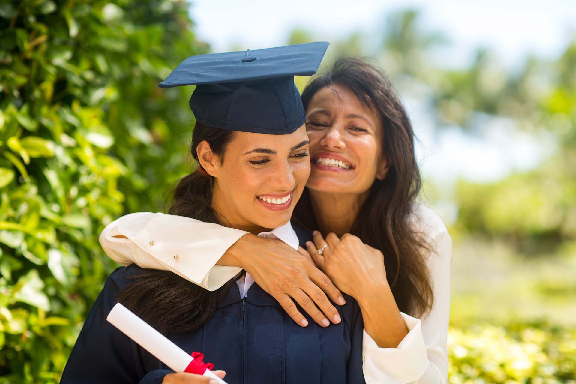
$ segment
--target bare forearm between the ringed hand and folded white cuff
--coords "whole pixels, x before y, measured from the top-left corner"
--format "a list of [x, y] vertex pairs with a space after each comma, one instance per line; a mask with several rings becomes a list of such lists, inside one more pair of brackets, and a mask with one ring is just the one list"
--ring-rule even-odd
[[357, 295], [364, 329], [380, 348], [397, 348], [408, 328], [388, 283], [370, 284]]

